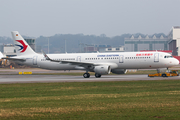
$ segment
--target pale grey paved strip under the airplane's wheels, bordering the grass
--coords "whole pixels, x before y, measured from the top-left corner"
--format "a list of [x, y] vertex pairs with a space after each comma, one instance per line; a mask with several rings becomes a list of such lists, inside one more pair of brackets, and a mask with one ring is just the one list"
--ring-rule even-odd
[[83, 78], [68, 75], [0, 75], [0, 84], [10, 83], [49, 83], [49, 82], [99, 82], [99, 81], [138, 81], [138, 80], [180, 80], [175, 77], [147, 77], [147, 75], [103, 75], [101, 78]]

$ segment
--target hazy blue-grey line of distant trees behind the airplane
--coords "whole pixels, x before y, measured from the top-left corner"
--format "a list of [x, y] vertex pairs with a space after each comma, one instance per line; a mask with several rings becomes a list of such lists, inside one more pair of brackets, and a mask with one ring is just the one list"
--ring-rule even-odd
[[[141, 33], [133, 34], [134, 37], [146, 35]], [[153, 34], [158, 36], [165, 36], [164, 33]], [[151, 36], [153, 36], [151, 35]], [[49, 39], [49, 53], [64, 53], [65, 47], [68, 53], [81, 52], [82, 49], [88, 45], [109, 45], [112, 47], [124, 46], [124, 38], [131, 37], [132, 34], [122, 34], [115, 37], [107, 37], [105, 34], [100, 36], [96, 35], [84, 35], [84, 34], [55, 34], [54, 36], [40, 36], [36, 38], [36, 48], [42, 49], [46, 53], [48, 52], [48, 39]], [[23, 36], [24, 38], [31, 38]], [[0, 44], [13, 44], [13, 40], [10, 37], [0, 37]]]

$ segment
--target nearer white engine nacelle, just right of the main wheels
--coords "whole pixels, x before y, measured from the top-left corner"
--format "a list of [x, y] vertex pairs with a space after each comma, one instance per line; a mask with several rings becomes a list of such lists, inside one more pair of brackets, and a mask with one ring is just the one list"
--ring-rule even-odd
[[110, 66], [95, 66], [94, 72], [100, 75], [110, 74], [111, 67]]

